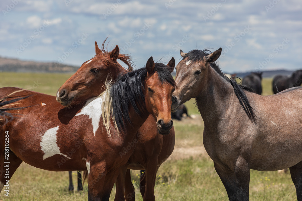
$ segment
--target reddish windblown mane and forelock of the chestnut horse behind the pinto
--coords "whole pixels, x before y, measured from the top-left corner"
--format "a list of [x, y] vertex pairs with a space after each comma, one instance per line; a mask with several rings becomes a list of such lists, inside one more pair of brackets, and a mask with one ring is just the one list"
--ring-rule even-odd
[[[107, 47], [106, 47], [106, 49], [104, 48], [104, 44], [105, 44], [106, 40], [107, 40], [107, 38], [102, 43], [102, 47], [101, 47], [102, 53], [96, 55], [96, 57], [98, 57], [102, 61], [102, 63], [105, 64], [106, 66], [114, 66], [118, 63], [116, 61], [113, 61], [110, 58], [110, 53], [108, 52]], [[133, 62], [129, 55], [119, 54], [117, 59], [120, 59], [128, 66], [128, 71], [133, 71], [133, 67], [132, 67]]]

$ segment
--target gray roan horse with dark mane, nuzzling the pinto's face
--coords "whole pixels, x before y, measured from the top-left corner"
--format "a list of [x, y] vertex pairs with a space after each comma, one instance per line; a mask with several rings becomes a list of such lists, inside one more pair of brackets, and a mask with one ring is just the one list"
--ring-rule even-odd
[[271, 96], [243, 90], [216, 64], [221, 48], [181, 51], [172, 111], [191, 98], [204, 120], [203, 143], [230, 200], [249, 199], [249, 170], [290, 168], [302, 200], [302, 87]]

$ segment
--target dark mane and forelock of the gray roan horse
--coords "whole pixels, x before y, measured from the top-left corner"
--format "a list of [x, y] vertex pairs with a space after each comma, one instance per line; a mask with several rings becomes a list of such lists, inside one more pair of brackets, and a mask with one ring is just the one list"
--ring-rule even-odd
[[[187, 54], [185, 54], [185, 56], [183, 57], [183, 59], [190, 58], [191, 62], [195, 63], [196, 61], [202, 61], [210, 53], [212, 53], [212, 52], [210, 50], [208, 50], [208, 49], [204, 49], [204, 50], [193, 49], [190, 52], [188, 52]], [[239, 103], [240, 103], [241, 107], [246, 112], [246, 114], [248, 115], [249, 119], [252, 122], [255, 123], [256, 122], [256, 117], [255, 117], [255, 114], [254, 114], [254, 111], [253, 111], [254, 109], [249, 104], [249, 100], [246, 97], [246, 94], [244, 92], [245, 90], [253, 92], [253, 90], [251, 90], [247, 86], [239, 85], [236, 82], [236, 80], [229, 79], [228, 77], [226, 77], [226, 75], [223, 74], [223, 72], [219, 68], [217, 62], [212, 62], [212, 63], [209, 63], [209, 64], [224, 80], [226, 80], [227, 82], [229, 82], [233, 86], [234, 92], [235, 92], [235, 94], [236, 94], [236, 96], [237, 96], [237, 98], [239, 100]]]

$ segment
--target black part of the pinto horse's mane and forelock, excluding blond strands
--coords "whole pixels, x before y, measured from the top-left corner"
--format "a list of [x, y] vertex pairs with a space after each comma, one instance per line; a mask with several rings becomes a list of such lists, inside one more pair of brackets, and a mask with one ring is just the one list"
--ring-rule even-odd
[[[167, 66], [162, 63], [155, 63], [154, 71], [157, 72], [161, 83], [175, 85], [175, 81]], [[112, 97], [112, 111], [118, 130], [124, 130], [125, 124], [130, 123], [129, 106], [133, 106], [135, 112], [142, 115], [145, 111], [144, 81], [146, 80], [147, 70], [141, 68], [135, 71], [121, 74], [117, 81], [110, 88]]]

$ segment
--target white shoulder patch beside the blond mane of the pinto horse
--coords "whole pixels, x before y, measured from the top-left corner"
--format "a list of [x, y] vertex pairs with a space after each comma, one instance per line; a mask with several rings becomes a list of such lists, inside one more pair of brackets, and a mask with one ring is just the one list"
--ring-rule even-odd
[[87, 100], [84, 107], [81, 109], [81, 111], [76, 114], [76, 116], [79, 115], [88, 115], [91, 119], [91, 124], [93, 128], [93, 133], [95, 135], [95, 132], [98, 130], [99, 123], [102, 116], [102, 103], [103, 99], [101, 96], [97, 98], [92, 98]]

